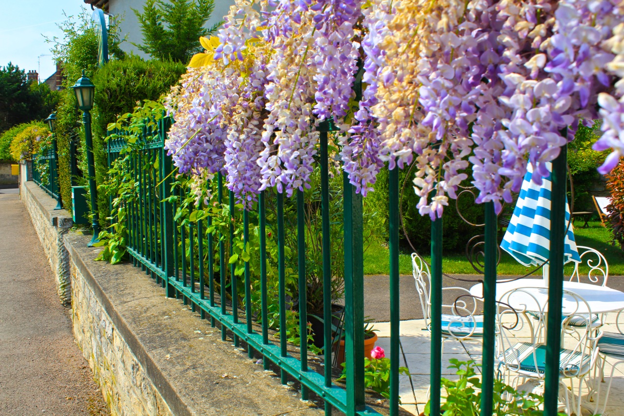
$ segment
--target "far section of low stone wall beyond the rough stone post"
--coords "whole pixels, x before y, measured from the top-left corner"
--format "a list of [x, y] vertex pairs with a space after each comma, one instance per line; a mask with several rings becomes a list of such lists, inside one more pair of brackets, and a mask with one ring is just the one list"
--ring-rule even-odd
[[54, 210], [56, 200], [46, 194], [37, 184], [31, 181], [22, 182], [19, 196], [31, 216], [32, 225], [41, 240], [56, 279], [56, 290], [61, 303], [71, 302], [71, 280], [69, 278], [69, 260], [67, 249], [63, 244], [63, 235], [74, 225], [71, 214], [67, 210]]

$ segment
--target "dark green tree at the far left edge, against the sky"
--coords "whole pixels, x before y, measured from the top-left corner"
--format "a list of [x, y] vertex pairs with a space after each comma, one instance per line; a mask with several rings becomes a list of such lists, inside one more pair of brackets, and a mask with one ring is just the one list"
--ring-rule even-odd
[[23, 69], [11, 62], [0, 67], [0, 132], [46, 118], [58, 101], [58, 92], [50, 91], [47, 84], [29, 83]]

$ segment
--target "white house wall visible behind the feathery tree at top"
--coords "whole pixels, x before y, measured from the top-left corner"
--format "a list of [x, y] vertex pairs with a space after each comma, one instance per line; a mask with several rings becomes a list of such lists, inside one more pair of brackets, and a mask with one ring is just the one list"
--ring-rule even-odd
[[[109, 0], [109, 14], [112, 16], [119, 16], [123, 19], [119, 26], [122, 37], [125, 36], [126, 40], [120, 45], [121, 49], [127, 53], [132, 52], [135, 55], [149, 59], [147, 54], [144, 54], [132, 44], [133, 42], [135, 44], [143, 43], [141, 26], [132, 9], [143, 12], [144, 3], [145, 0]], [[222, 21], [223, 16], [230, 11], [230, 6], [232, 4], [234, 4], [233, 0], [215, 0], [215, 10], [212, 12], [212, 16], [210, 16], [205, 26], [211, 27], [213, 24]]]

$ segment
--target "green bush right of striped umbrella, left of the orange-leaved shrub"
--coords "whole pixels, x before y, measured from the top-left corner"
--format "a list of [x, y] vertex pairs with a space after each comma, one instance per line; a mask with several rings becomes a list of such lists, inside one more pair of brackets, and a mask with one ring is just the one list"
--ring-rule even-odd
[[[594, 210], [593, 190], [600, 187], [601, 183], [597, 169], [609, 153], [608, 151], [597, 152], [592, 149], [598, 138], [600, 138], [600, 121], [596, 121], [593, 127], [585, 127], [579, 124], [574, 140], [568, 144], [568, 167], [570, 167], [574, 186], [573, 210], [575, 211], [591, 212]], [[571, 191], [568, 192], [568, 201], [572, 201]]]

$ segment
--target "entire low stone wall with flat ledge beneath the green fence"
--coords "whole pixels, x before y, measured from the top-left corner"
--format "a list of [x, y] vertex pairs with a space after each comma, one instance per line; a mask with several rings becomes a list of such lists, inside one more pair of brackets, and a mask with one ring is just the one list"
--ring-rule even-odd
[[96, 262], [101, 247], [71, 232], [66, 212], [36, 184], [22, 183], [21, 198], [52, 270], [71, 289], [74, 337], [112, 416], [323, 414], [145, 272]]

